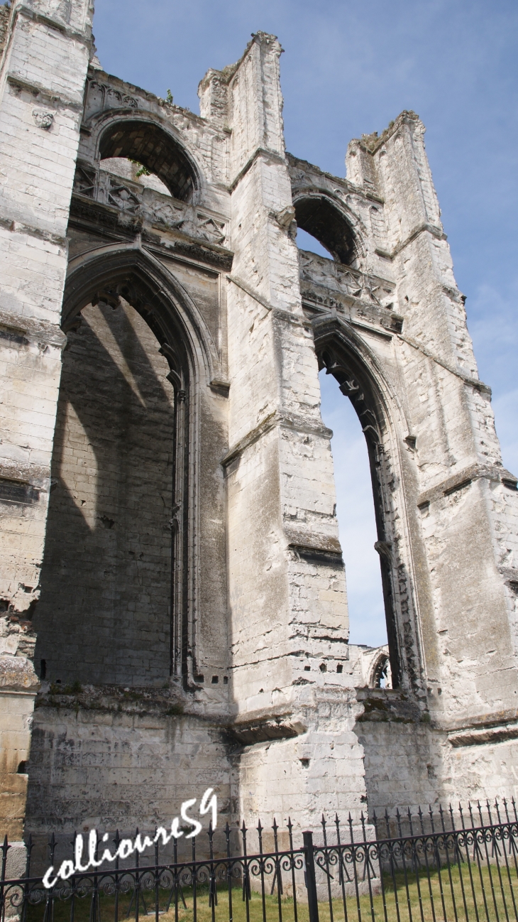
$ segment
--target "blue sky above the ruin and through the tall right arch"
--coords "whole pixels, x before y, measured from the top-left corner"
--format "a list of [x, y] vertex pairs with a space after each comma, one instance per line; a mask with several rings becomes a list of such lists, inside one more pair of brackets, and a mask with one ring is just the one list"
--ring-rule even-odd
[[[515, 0], [96, 0], [100, 61], [112, 74], [198, 112], [208, 67], [236, 61], [253, 31], [285, 53], [287, 147], [345, 174], [351, 137], [381, 133], [403, 109], [427, 151], [482, 380], [493, 388], [503, 461], [518, 473], [518, 4]], [[314, 248], [314, 247], [313, 247]], [[383, 643], [366, 452], [332, 386], [338, 518], [351, 640]]]

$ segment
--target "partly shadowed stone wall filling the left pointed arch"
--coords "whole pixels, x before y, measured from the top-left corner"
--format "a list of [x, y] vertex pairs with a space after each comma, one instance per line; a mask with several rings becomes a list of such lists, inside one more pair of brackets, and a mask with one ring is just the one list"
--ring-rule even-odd
[[170, 675], [174, 392], [128, 304], [68, 333], [53, 450], [36, 665], [50, 681]]

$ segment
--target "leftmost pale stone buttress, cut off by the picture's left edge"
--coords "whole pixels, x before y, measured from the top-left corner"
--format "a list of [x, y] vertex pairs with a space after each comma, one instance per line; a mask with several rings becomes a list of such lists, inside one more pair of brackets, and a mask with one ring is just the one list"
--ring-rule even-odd
[[[65, 10], [64, 10], [64, 7]], [[21, 836], [30, 715], [28, 656], [51, 482], [65, 337], [66, 225], [76, 171], [93, 5], [15, 0], [2, 8], [0, 74], [0, 445], [2, 706], [6, 832]], [[32, 640], [32, 643], [31, 643]]]

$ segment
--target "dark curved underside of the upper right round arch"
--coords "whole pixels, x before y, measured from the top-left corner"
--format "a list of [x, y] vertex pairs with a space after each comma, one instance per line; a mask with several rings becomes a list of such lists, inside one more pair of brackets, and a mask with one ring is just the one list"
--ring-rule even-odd
[[347, 219], [326, 195], [305, 195], [294, 202], [297, 225], [315, 237], [338, 263], [351, 266], [355, 238]]

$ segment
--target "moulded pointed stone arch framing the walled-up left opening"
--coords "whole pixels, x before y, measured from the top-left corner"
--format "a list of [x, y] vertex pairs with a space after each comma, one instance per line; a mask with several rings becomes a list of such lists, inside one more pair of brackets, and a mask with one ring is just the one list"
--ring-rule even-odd
[[[169, 438], [171, 442], [164, 450], [172, 458], [171, 506], [164, 510], [171, 531], [171, 536], [166, 540], [166, 544], [171, 541], [169, 674], [182, 681], [186, 687], [197, 671], [194, 631], [197, 572], [194, 560], [197, 490], [195, 459], [199, 450], [197, 403], [199, 388], [208, 384], [211, 369], [217, 361], [214, 344], [194, 302], [178, 280], [151, 254], [138, 246], [122, 244], [102, 247], [71, 262], [63, 306], [62, 326], [65, 333], [79, 328], [81, 311], [88, 305], [98, 306], [105, 311], [107, 308], [116, 311], [122, 307], [127, 311], [129, 305], [153, 334], [157, 353], [162, 357], [160, 361], [167, 361], [169, 366], [167, 382], [174, 395], [171, 401], [171, 425], [164, 432], [164, 438]], [[111, 310], [107, 316], [112, 316]], [[142, 364], [143, 360], [140, 361]], [[162, 420], [166, 409], [162, 408]], [[159, 438], [158, 434], [158, 443]], [[164, 476], [169, 475], [164, 473]], [[164, 505], [168, 497], [169, 491], [165, 499], [162, 496]], [[140, 513], [140, 510], [135, 509], [135, 515]], [[104, 527], [112, 528], [112, 525], [108, 522]], [[129, 552], [133, 553], [131, 550]], [[43, 575], [44, 571], [45, 565]], [[41, 630], [40, 644], [45, 641], [44, 634], [44, 630]], [[135, 656], [135, 653], [132, 655]], [[163, 676], [164, 680], [166, 678]], [[155, 676], [154, 681], [157, 680]]]

